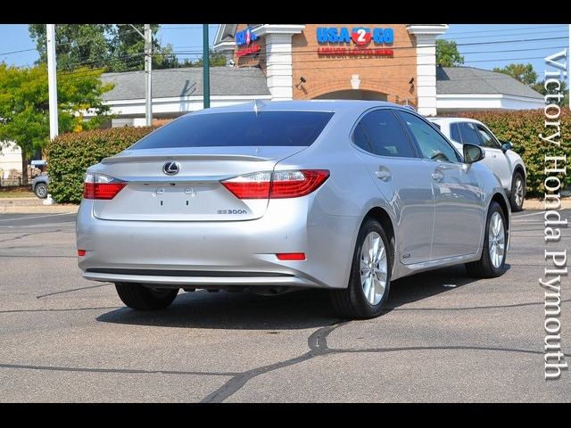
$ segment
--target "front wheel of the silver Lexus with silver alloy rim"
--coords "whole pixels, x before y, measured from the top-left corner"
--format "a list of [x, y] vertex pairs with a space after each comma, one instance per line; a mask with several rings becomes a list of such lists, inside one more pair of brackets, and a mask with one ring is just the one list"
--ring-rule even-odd
[[[496, 221], [498, 218], [501, 219], [501, 231], [496, 229]], [[508, 245], [508, 234], [505, 225], [506, 217], [500, 204], [492, 201], [485, 222], [482, 257], [478, 261], [466, 264], [466, 270], [469, 276], [475, 278], [495, 278], [503, 275], [505, 272], [506, 250]], [[503, 245], [502, 249], [501, 245]], [[491, 248], [492, 251], [490, 251]], [[498, 257], [497, 254], [500, 252], [501, 257]]]

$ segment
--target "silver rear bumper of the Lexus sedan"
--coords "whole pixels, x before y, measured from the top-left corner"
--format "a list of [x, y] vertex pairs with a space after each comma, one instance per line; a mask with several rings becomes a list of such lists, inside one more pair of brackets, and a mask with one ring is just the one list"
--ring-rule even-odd
[[[275, 203], [274, 203], [275, 202]], [[172, 287], [288, 286], [344, 288], [358, 218], [310, 209], [310, 198], [277, 200], [245, 221], [125, 221], [77, 218], [79, 268], [89, 280]], [[276, 253], [304, 252], [285, 261]]]

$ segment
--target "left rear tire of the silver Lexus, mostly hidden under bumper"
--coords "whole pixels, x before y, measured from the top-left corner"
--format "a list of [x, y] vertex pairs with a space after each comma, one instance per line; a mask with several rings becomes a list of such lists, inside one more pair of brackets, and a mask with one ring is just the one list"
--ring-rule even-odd
[[115, 283], [120, 300], [137, 310], [165, 309], [177, 297], [177, 288], [153, 290], [142, 284]]

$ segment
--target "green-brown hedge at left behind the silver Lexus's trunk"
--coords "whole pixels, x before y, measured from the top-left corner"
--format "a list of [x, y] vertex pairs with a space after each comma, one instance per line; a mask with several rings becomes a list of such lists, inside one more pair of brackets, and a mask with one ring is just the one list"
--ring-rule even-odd
[[55, 202], [80, 202], [86, 169], [113, 156], [157, 127], [109, 128], [62, 134], [46, 146], [49, 193]]

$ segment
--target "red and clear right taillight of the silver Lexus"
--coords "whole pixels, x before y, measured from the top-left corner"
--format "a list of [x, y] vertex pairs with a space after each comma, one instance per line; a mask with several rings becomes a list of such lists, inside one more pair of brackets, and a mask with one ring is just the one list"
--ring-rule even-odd
[[329, 177], [327, 169], [255, 172], [224, 180], [239, 199], [298, 198], [316, 190]]

